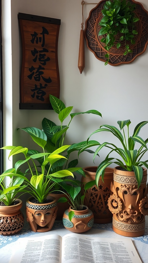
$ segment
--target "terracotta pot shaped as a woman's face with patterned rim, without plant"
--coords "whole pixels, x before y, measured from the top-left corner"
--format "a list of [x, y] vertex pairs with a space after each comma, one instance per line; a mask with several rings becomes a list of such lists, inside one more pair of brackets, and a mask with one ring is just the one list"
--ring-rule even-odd
[[48, 195], [45, 204], [35, 203], [33, 199], [31, 197], [26, 201], [27, 221], [31, 230], [34, 232], [50, 231], [57, 216], [56, 198]]

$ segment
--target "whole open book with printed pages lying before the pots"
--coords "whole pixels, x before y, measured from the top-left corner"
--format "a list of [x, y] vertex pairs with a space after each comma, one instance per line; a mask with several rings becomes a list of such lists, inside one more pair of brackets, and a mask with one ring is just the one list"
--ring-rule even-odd
[[142, 263], [131, 239], [70, 233], [19, 238], [10, 263]]

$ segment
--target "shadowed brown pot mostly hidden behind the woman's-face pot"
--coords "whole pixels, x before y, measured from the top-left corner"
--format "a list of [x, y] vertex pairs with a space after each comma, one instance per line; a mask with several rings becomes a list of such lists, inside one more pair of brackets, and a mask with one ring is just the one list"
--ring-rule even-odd
[[[56, 201], [58, 201], [58, 199], [60, 199], [61, 197], [67, 198], [67, 195], [62, 194], [62, 193], [60, 193], [60, 194], [53, 194], [52, 193], [50, 195], [53, 196], [54, 198], [56, 198]], [[65, 210], [69, 208], [69, 204], [68, 204], [68, 202], [57, 203], [57, 206], [58, 206], [58, 210], [57, 210], [56, 220], [62, 220]]]

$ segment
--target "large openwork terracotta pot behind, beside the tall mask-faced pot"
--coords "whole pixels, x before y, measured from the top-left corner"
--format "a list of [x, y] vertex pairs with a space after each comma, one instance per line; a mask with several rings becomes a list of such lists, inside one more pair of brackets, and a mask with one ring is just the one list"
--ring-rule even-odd
[[[87, 183], [95, 180], [97, 166], [84, 167], [85, 176], [82, 176], [81, 182]], [[87, 190], [84, 204], [92, 210], [94, 215], [94, 223], [107, 224], [112, 222], [112, 213], [108, 209], [108, 198], [111, 194], [111, 182], [113, 182], [114, 169], [106, 168], [104, 174], [104, 183], [100, 176], [98, 188], [96, 185]]]

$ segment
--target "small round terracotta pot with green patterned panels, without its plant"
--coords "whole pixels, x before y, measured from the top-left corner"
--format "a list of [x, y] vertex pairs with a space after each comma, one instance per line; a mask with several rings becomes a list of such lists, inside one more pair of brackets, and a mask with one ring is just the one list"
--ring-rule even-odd
[[[75, 215], [70, 221], [68, 213], [74, 211]], [[93, 213], [87, 206], [83, 206], [83, 210], [67, 209], [63, 215], [63, 225], [66, 229], [74, 233], [83, 233], [91, 229], [93, 226], [94, 217]]]

